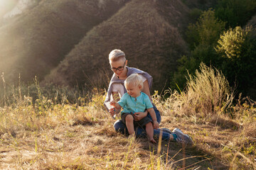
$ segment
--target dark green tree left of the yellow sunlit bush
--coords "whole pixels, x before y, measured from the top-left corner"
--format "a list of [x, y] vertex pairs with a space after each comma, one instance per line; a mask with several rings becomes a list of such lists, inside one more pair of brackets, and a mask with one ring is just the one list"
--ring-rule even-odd
[[201, 62], [207, 65], [220, 62], [220, 57], [213, 46], [217, 44], [220, 33], [224, 29], [225, 23], [215, 18], [212, 9], [204, 11], [196, 24], [188, 26], [186, 36], [191, 47], [191, 55], [183, 56], [178, 60], [178, 72], [174, 73], [174, 82], [171, 82], [172, 89], [176, 89], [176, 84], [181, 87], [186, 85], [186, 70], [193, 74]]

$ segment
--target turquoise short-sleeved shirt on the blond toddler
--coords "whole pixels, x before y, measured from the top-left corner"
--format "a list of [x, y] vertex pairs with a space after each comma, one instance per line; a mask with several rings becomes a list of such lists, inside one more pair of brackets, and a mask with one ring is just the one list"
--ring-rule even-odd
[[141, 94], [134, 98], [129, 94], [124, 94], [118, 101], [119, 105], [124, 109], [122, 113], [137, 113], [144, 112], [146, 108], [153, 108], [149, 96], [141, 92]]

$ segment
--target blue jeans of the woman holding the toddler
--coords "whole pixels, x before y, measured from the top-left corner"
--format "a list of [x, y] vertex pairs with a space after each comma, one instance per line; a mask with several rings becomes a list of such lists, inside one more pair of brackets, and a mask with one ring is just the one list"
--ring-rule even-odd
[[[156, 113], [156, 120], [160, 124], [161, 123], [161, 115], [160, 115], [159, 110], [157, 110], [156, 106], [154, 106], [154, 111]], [[147, 116], [152, 120], [150, 114], [148, 114]], [[122, 123], [122, 120], [117, 120], [114, 123], [114, 130], [116, 130], [117, 132], [121, 132], [123, 135], [129, 135], [127, 127], [124, 123]], [[135, 134], [137, 137], [146, 137], [146, 130], [142, 127], [138, 127], [135, 129]], [[159, 137], [159, 135], [160, 135], [160, 129], [157, 129], [157, 130], [154, 129], [154, 137]], [[168, 132], [163, 132], [162, 140], [169, 140], [170, 135], [171, 134]]]

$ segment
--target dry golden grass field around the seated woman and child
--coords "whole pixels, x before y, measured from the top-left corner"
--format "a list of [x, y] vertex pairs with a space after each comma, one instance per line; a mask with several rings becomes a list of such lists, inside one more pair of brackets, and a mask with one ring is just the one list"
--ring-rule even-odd
[[[4, 77], [2, 83], [6, 89]], [[13, 103], [1, 96], [0, 169], [256, 168], [256, 103], [234, 99], [223, 74], [203, 64], [188, 77], [186, 91], [152, 95], [160, 128], [180, 128], [193, 137], [191, 147], [159, 139], [153, 145], [115, 132], [103, 90], [70, 103], [65, 95], [61, 102], [43, 96], [37, 81], [36, 87], [36, 101], [21, 87]]]

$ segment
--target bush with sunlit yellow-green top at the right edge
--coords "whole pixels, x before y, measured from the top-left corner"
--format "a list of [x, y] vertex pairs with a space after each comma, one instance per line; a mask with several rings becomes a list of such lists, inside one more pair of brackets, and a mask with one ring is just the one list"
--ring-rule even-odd
[[[215, 47], [223, 57], [221, 69], [230, 83], [237, 82], [238, 91], [246, 93], [256, 84], [256, 34], [255, 30], [240, 27], [223, 33]], [[255, 95], [255, 94], [254, 94]]]

